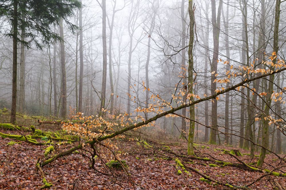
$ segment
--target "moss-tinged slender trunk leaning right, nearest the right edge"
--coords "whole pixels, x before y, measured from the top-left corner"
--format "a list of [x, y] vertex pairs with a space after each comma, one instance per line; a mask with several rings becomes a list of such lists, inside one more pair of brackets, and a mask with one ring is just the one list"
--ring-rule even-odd
[[[279, 50], [278, 34], [279, 34], [279, 20], [280, 20], [280, 3], [281, 3], [281, 0], [276, 0], [275, 24], [274, 24], [274, 34], [273, 34], [274, 35], [273, 36], [273, 52], [274, 52], [273, 54], [274, 54], [274, 56], [277, 56], [278, 50]], [[272, 60], [272, 62], [273, 62], [273, 64], [275, 64], [276, 58], [274, 58]], [[270, 66], [270, 69], [275, 70], [275, 68], [273, 68], [272, 66]], [[270, 110], [271, 101], [272, 101], [271, 94], [273, 92], [274, 77], [275, 77], [274, 74], [269, 76], [268, 93], [266, 96], [267, 105], [265, 105], [265, 109], [264, 109], [264, 113], [265, 113], [266, 117], [269, 116], [269, 110]], [[259, 167], [263, 166], [264, 158], [265, 158], [265, 154], [266, 154], [266, 148], [268, 148], [268, 144], [269, 144], [268, 122], [269, 122], [268, 120], [262, 121], [262, 143], [261, 143], [261, 145], [263, 147], [261, 148], [259, 160], [257, 162], [257, 166], [259, 166]]]

